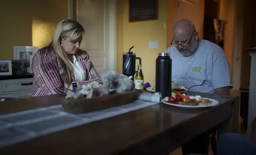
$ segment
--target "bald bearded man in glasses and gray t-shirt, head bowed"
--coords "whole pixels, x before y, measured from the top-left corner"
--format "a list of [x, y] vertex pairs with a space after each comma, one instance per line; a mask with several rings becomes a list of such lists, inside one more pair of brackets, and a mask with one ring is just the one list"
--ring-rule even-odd
[[[171, 47], [166, 50], [172, 59], [172, 83], [189, 91], [229, 95], [232, 87], [229, 62], [221, 47], [198, 38], [195, 26], [188, 19], [176, 22]], [[208, 154], [210, 139], [217, 127], [182, 146], [183, 154]]]

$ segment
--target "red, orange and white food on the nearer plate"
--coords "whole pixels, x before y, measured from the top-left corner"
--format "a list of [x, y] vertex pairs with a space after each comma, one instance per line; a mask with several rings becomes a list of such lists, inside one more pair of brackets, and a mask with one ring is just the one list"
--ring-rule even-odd
[[209, 99], [204, 99], [200, 95], [187, 96], [185, 94], [180, 94], [177, 91], [172, 92], [172, 96], [165, 97], [165, 102], [172, 104], [180, 104], [186, 106], [200, 106], [200, 105], [211, 105], [212, 101]]

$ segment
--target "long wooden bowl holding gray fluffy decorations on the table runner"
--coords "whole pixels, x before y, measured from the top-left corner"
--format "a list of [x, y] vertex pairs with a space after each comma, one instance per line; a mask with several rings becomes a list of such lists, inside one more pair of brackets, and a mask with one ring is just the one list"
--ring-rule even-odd
[[88, 113], [128, 104], [136, 100], [136, 98], [137, 94], [134, 90], [126, 93], [116, 93], [107, 96], [95, 96], [92, 98], [63, 98], [62, 106], [66, 112]]

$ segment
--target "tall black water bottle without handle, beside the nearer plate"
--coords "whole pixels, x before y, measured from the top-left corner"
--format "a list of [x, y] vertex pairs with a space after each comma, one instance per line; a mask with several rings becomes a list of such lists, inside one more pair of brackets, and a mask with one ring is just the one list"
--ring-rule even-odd
[[162, 98], [171, 96], [172, 59], [169, 53], [159, 53], [155, 60], [155, 92], [160, 92]]

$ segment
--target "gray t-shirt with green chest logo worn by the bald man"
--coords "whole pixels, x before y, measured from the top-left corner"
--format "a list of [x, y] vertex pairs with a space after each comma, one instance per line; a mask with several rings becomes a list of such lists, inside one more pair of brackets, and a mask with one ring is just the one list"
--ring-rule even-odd
[[227, 56], [215, 43], [200, 40], [196, 53], [190, 57], [180, 54], [174, 46], [165, 52], [172, 59], [172, 83], [202, 93], [214, 93], [214, 89], [232, 87]]

